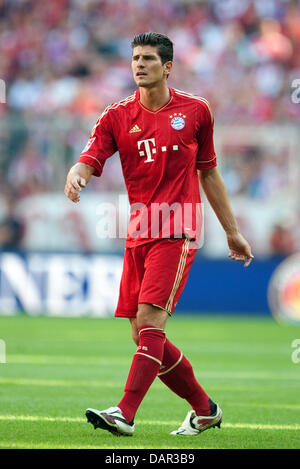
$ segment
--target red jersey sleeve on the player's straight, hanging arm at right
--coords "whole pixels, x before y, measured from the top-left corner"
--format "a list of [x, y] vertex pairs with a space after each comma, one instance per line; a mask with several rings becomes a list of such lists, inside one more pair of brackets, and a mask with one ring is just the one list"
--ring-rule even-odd
[[214, 168], [217, 165], [216, 153], [214, 147], [214, 117], [209, 104], [203, 100], [198, 108], [198, 154], [196, 166], [197, 169], [205, 170]]

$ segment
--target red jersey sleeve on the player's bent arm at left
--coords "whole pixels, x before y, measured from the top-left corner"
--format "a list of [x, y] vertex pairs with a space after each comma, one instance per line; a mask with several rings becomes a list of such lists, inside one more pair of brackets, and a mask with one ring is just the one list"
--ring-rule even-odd
[[117, 151], [113, 137], [109, 111], [106, 109], [97, 120], [85, 148], [82, 150], [78, 163], [93, 166], [95, 176], [101, 176], [107, 158]]

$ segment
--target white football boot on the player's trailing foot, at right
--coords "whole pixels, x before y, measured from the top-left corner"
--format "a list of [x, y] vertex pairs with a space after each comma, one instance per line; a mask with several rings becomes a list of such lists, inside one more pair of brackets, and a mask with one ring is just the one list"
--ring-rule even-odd
[[199, 435], [199, 433], [209, 428], [221, 428], [222, 410], [216, 405], [212, 415], [196, 415], [194, 410], [190, 410], [178, 430], [171, 432], [171, 435]]

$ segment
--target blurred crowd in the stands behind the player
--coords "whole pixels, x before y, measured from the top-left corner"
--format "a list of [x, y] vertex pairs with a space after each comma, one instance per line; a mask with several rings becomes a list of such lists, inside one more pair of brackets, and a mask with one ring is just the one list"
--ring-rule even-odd
[[[130, 42], [144, 31], [170, 36], [170, 86], [207, 98], [217, 125], [299, 123], [299, 25], [299, 0], [0, 0], [2, 193], [63, 190], [98, 115], [135, 89]], [[230, 193], [272, 197], [284, 153], [241, 155], [226, 156]], [[108, 168], [89, 190], [123, 190], [117, 159]]]

